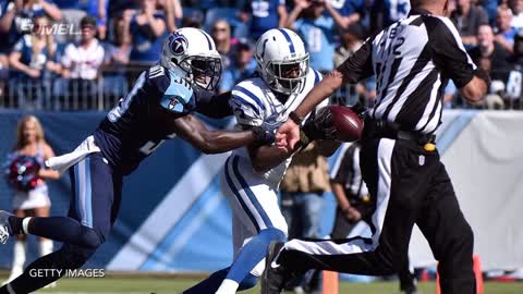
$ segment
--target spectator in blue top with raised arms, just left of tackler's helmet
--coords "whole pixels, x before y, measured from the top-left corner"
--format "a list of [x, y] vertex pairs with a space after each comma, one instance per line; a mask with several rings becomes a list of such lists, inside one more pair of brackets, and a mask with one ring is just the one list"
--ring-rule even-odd
[[162, 13], [156, 10], [156, 0], [141, 0], [139, 4], [138, 11], [126, 10], [123, 14], [133, 45], [131, 62], [149, 66], [158, 60], [167, 25]]

